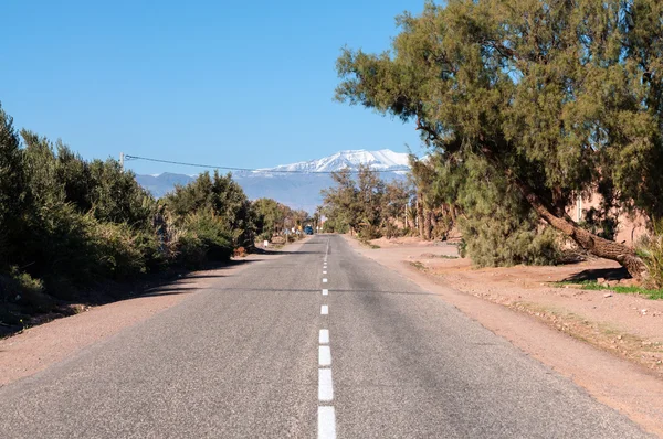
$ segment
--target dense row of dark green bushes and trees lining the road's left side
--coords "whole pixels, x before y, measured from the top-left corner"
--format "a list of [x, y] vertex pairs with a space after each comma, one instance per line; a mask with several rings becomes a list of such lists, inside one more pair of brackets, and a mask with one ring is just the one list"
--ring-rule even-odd
[[19, 131], [0, 107], [0, 324], [93, 302], [103, 283], [229, 261], [306, 220], [272, 200], [252, 203], [218, 172], [155, 200], [116, 160], [85, 161]]

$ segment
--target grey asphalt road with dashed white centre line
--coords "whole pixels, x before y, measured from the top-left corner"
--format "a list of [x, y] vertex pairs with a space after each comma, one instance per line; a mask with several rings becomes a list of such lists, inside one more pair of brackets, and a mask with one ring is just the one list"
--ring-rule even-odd
[[646, 437], [339, 236], [213, 276], [0, 388], [0, 438]]

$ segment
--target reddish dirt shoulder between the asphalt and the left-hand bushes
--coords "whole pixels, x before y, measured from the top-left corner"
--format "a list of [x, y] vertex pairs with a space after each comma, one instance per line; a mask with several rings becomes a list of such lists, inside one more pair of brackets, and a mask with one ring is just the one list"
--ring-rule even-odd
[[[304, 242], [288, 245], [292, 251]], [[257, 260], [281, 257], [278, 251], [249, 255], [225, 267], [196, 271], [152, 288], [145, 295], [53, 320], [0, 340], [0, 387], [45, 370], [80, 350], [186, 300], [198, 290], [213, 287], [219, 278], [233, 276]]]

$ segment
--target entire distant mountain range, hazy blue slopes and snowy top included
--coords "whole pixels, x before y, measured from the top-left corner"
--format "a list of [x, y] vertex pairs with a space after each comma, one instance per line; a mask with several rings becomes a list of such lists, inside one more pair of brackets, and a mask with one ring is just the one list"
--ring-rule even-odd
[[[235, 180], [251, 200], [274, 199], [293, 208], [313, 213], [322, 204], [320, 191], [334, 185], [330, 172], [368, 165], [381, 172], [388, 181], [406, 179], [410, 169], [408, 154], [389, 149], [379, 151], [340, 151], [329, 157], [305, 162], [283, 164], [256, 171], [233, 172]], [[136, 181], [154, 196], [171, 192], [177, 184], [185, 185], [197, 175], [165, 172], [157, 175], [136, 175]]]

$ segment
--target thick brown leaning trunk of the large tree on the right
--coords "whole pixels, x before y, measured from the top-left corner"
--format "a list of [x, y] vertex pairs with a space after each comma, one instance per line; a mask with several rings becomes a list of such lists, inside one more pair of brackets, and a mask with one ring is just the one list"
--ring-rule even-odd
[[627, 245], [604, 239], [581, 228], [566, 213], [564, 216], [552, 214], [551, 210], [540, 199], [520, 182], [517, 183], [520, 192], [534, 210], [552, 227], [569, 236], [581, 248], [594, 256], [615, 260], [621, 264], [635, 279], [646, 277], [648, 269], [642, 259], [635, 255], [635, 250]]

